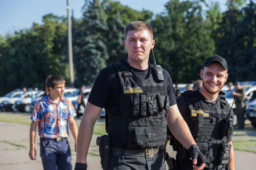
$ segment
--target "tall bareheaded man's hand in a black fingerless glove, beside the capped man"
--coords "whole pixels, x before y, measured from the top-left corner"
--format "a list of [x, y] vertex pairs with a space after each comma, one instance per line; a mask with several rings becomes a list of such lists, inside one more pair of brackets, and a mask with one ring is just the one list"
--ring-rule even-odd
[[191, 147], [189, 147], [189, 153], [193, 162], [192, 167], [195, 170], [203, 170], [205, 167], [206, 158], [199, 150], [198, 145], [192, 144]]

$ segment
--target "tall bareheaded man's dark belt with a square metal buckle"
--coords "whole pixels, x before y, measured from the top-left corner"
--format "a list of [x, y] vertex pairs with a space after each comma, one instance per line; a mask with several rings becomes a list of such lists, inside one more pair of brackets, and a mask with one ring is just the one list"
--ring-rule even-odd
[[152, 157], [160, 151], [160, 147], [147, 147], [143, 149], [111, 149], [111, 156], [145, 156], [146, 158]]

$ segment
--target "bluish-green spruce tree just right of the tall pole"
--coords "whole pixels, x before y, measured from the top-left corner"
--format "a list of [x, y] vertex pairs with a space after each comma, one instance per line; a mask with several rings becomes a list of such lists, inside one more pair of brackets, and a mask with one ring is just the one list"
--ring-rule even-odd
[[83, 7], [83, 19], [74, 35], [76, 84], [92, 85], [108, 59], [106, 14], [99, 0], [88, 0]]

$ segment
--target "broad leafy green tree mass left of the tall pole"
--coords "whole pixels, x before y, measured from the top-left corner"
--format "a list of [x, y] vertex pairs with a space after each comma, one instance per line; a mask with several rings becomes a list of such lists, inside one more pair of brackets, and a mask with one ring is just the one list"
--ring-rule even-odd
[[6, 37], [2, 73], [6, 91], [22, 86], [41, 88], [49, 74], [67, 78], [67, 63], [61, 62], [66, 30], [62, 18], [48, 14], [43, 25], [33, 23], [32, 28]]

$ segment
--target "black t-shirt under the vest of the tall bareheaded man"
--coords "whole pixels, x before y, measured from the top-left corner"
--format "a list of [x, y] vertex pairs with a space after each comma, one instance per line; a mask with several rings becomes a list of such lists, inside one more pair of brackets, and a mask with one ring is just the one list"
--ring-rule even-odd
[[[149, 77], [149, 69], [139, 70], [136, 68], [131, 69], [141, 79]], [[176, 104], [174, 88], [170, 74], [163, 69], [164, 84], [169, 95], [170, 106]], [[90, 92], [88, 102], [100, 108], [111, 108], [113, 105], [120, 105], [120, 98], [122, 93], [121, 82], [116, 73], [115, 68], [110, 65], [103, 68], [93, 83], [93, 88]]]

